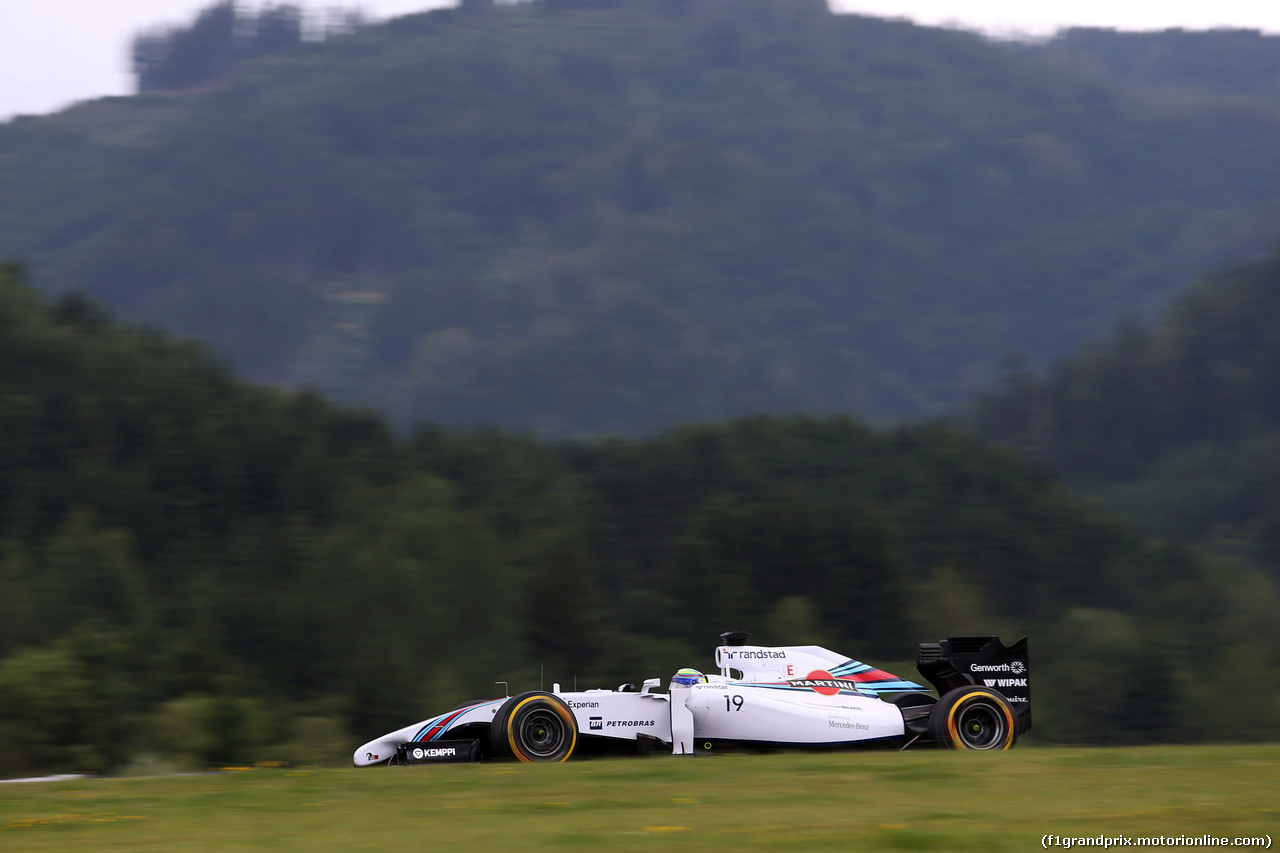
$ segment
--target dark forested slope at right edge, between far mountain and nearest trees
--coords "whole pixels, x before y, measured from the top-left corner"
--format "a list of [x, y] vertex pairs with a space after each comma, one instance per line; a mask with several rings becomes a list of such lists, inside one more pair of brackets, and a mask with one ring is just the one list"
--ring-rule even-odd
[[972, 415], [1148, 529], [1280, 578], [1280, 247], [1199, 282], [1158, 323], [1009, 374]]

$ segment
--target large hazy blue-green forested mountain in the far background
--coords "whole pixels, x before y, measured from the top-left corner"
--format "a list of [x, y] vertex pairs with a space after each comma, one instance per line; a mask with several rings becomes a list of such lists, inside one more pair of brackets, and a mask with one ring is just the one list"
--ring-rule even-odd
[[399, 424], [887, 419], [1263, 247], [1277, 149], [820, 0], [466, 3], [0, 126], [0, 257]]

